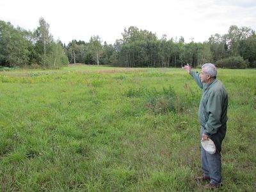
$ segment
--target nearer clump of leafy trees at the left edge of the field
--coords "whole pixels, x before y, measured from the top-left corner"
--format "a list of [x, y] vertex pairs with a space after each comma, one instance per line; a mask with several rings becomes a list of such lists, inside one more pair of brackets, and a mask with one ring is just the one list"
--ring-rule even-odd
[[49, 24], [39, 19], [35, 31], [14, 28], [0, 20], [0, 66], [59, 68], [68, 65], [60, 40], [49, 33]]

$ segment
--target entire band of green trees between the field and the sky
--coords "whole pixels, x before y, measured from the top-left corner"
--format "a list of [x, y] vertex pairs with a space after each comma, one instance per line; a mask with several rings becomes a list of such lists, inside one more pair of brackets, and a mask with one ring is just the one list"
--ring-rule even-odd
[[59, 68], [68, 63], [120, 67], [181, 67], [191, 63], [216, 63], [224, 68], [256, 67], [256, 35], [248, 27], [230, 26], [225, 35], [211, 35], [205, 42], [185, 43], [184, 38], [163, 35], [131, 26], [115, 44], [102, 43], [99, 36], [89, 42], [72, 40], [65, 45], [54, 40], [49, 24], [39, 19], [35, 31], [14, 28], [0, 20], [0, 66]]

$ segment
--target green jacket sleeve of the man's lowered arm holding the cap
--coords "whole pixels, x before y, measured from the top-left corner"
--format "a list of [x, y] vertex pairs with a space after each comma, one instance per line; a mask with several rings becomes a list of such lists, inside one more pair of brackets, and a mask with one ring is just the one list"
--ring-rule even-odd
[[207, 123], [205, 124], [204, 133], [207, 135], [215, 134], [221, 127], [221, 96], [212, 93], [207, 102], [205, 113], [209, 114]]

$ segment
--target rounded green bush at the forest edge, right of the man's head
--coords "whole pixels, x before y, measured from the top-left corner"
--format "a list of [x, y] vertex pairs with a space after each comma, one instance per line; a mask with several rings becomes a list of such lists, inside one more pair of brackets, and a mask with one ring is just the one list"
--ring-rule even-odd
[[221, 68], [246, 68], [248, 61], [241, 56], [231, 56], [223, 60], [216, 61], [216, 67]]

